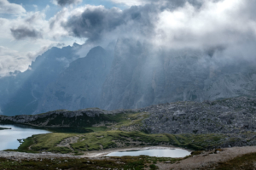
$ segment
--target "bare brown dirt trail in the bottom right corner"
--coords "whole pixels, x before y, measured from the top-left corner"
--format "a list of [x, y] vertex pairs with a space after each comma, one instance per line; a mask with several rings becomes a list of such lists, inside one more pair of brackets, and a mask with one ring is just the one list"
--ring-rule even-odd
[[160, 167], [161, 170], [198, 168], [204, 169], [217, 165], [218, 162], [229, 161], [237, 156], [242, 156], [253, 152], [256, 152], [256, 146], [224, 148], [223, 151], [220, 151], [216, 154], [210, 154], [210, 152], [205, 152], [201, 155], [193, 156], [174, 164], [159, 163], [157, 164], [157, 166]]

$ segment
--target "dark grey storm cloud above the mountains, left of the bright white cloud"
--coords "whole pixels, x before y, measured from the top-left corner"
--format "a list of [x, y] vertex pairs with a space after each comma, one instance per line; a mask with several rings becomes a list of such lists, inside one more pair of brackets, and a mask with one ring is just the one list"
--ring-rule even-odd
[[86, 8], [80, 15], [74, 15], [63, 26], [75, 37], [86, 37], [90, 42], [100, 41], [104, 34], [125, 26], [127, 32], [137, 30], [147, 34], [154, 28], [154, 17], [149, 14], [154, 11], [152, 6], [133, 6], [124, 11], [118, 8]]

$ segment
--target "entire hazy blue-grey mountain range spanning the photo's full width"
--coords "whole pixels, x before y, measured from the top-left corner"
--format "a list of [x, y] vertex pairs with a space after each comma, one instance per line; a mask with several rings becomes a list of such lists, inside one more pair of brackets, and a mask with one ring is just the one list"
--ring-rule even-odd
[[218, 60], [189, 49], [155, 51], [131, 38], [120, 38], [113, 46], [92, 48], [84, 58], [76, 55], [79, 45], [52, 48], [38, 56], [29, 70], [3, 77], [2, 113], [137, 109], [256, 95], [255, 63], [250, 60]]

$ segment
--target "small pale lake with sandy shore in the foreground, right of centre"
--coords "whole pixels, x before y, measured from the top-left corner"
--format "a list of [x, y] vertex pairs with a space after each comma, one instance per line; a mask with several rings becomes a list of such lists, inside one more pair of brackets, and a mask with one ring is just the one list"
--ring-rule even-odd
[[106, 156], [154, 156], [154, 157], [185, 157], [191, 152], [182, 149], [155, 149], [155, 150], [131, 150], [122, 152], [112, 152]]

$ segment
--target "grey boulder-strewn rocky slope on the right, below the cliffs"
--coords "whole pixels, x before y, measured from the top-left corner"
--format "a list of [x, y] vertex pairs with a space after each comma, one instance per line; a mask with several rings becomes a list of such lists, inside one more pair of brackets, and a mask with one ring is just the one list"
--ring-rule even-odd
[[149, 133], [242, 133], [256, 131], [256, 99], [239, 97], [214, 102], [153, 105], [144, 120]]

